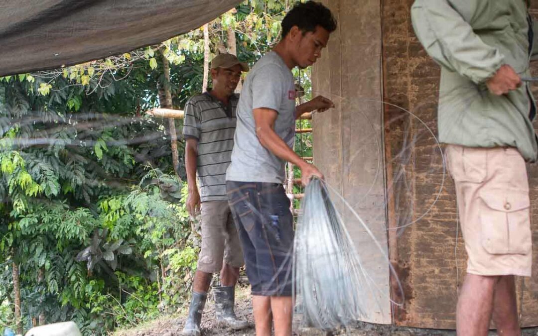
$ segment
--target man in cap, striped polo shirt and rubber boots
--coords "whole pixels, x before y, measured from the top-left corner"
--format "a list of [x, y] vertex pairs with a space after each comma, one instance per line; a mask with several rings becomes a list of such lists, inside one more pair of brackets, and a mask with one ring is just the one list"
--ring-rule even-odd
[[[236, 127], [234, 94], [242, 72], [249, 70], [232, 54], [211, 61], [213, 87], [189, 99], [185, 105], [183, 135], [186, 138], [187, 210], [201, 210], [202, 249], [194, 276], [193, 297], [183, 335], [200, 335], [202, 310], [212, 274], [221, 271], [221, 286], [214, 287], [217, 320], [233, 329], [247, 327], [233, 311], [234, 289], [243, 266], [243, 253], [226, 197], [226, 169], [230, 164]], [[200, 181], [197, 186], [196, 173]]]

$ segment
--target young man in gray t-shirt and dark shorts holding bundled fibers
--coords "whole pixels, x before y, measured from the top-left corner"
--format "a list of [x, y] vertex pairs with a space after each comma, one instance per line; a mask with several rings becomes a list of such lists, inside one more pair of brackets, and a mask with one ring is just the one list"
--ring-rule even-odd
[[291, 69], [313, 65], [336, 20], [313, 1], [297, 4], [282, 20], [282, 39], [246, 76], [226, 193], [243, 249], [257, 335], [292, 333], [293, 216], [282, 183], [284, 165], [301, 169], [302, 182], [321, 172], [293, 152], [295, 119], [334, 106], [318, 96], [295, 107]]

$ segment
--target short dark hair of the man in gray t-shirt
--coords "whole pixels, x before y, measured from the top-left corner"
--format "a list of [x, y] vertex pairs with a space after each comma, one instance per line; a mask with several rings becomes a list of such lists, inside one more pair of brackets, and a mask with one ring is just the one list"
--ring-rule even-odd
[[336, 19], [331, 11], [315, 1], [296, 4], [282, 20], [282, 39], [286, 37], [293, 26], [297, 26], [303, 34], [314, 32], [316, 26], [323, 27], [329, 33], [336, 30]]

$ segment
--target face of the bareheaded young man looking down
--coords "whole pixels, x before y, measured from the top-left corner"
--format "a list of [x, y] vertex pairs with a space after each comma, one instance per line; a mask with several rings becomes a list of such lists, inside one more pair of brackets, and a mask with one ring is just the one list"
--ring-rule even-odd
[[313, 65], [321, 56], [321, 49], [327, 46], [329, 32], [317, 26], [314, 32], [303, 34], [298, 27], [292, 27], [291, 36], [295, 40], [294, 61], [301, 69]]

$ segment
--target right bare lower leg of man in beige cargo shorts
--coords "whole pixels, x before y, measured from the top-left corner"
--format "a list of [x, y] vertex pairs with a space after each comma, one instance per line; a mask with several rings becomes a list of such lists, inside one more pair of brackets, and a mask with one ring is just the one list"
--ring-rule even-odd
[[518, 307], [515, 299], [513, 275], [499, 277], [493, 296], [493, 321], [497, 333], [504, 336], [520, 336]]

